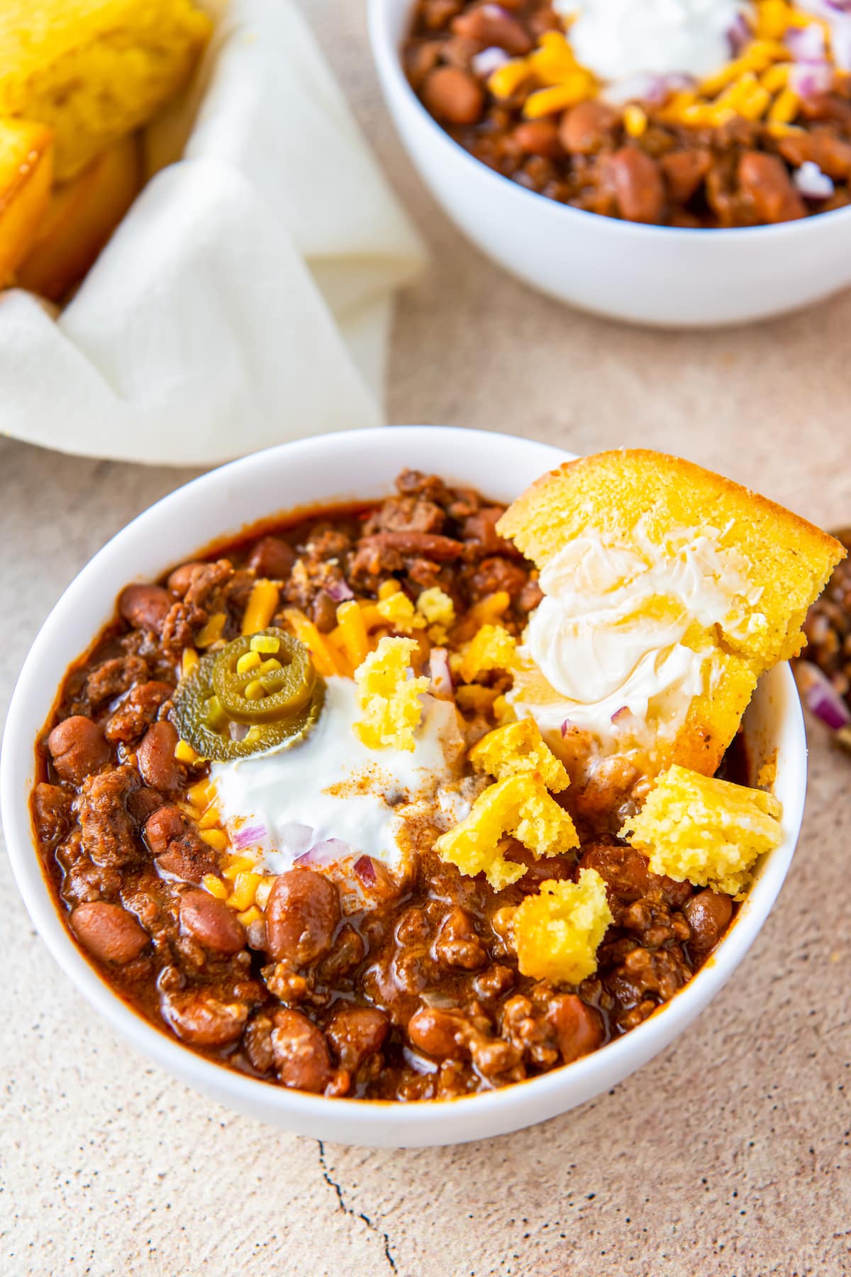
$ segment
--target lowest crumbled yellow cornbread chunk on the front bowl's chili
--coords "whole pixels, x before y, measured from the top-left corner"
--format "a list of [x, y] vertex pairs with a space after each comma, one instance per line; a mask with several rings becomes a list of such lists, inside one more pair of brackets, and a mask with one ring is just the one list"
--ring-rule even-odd
[[512, 918], [521, 974], [578, 985], [596, 972], [597, 949], [612, 922], [606, 884], [596, 870], [579, 870], [577, 882], [542, 882]]

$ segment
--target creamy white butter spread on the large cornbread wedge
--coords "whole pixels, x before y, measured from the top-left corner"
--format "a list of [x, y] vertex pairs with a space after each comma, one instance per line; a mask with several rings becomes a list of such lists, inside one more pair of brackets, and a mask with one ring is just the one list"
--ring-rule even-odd
[[[639, 529], [626, 547], [588, 531], [546, 564], [521, 650], [558, 693], [528, 706], [545, 733], [565, 720], [603, 746], [623, 734], [619, 720], [648, 744], [676, 733], [712, 679], [717, 649], [704, 632], [720, 626], [735, 640], [766, 624], [753, 613], [762, 591], [720, 535], [683, 530], [658, 545]], [[509, 699], [519, 709], [518, 692]]]

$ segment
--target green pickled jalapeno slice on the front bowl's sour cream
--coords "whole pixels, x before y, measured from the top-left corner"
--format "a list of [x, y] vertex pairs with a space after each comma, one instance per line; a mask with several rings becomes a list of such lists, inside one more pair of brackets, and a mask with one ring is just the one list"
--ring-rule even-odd
[[[262, 633], [270, 640], [272, 637], [281, 638], [283, 632], [262, 631]], [[286, 651], [291, 656], [296, 645], [302, 647], [302, 644], [290, 635], [283, 635], [283, 637], [287, 640]], [[236, 651], [237, 646], [239, 651]], [[269, 647], [269, 651], [260, 654], [263, 658], [262, 664], [265, 664], [265, 660], [270, 659], [272, 655], [270, 642], [265, 646]], [[230, 654], [233, 655], [232, 660], [228, 655], [230, 649], [235, 649], [236, 653], [235, 655]], [[283, 706], [278, 718], [265, 718], [260, 714], [255, 715], [254, 720], [248, 718], [249, 707], [253, 709], [258, 702], [267, 702], [272, 697], [277, 699], [278, 693], [283, 691], [281, 686], [276, 690], [276, 682], [278, 684], [282, 682], [277, 677], [272, 681], [270, 693], [258, 695], [253, 699], [253, 695], [245, 697], [242, 690], [241, 699], [236, 700], [237, 709], [242, 715], [239, 719], [226, 709], [216, 690], [216, 672], [219, 661], [222, 658], [228, 656], [223, 668], [226, 672], [231, 670], [232, 674], [236, 674], [236, 661], [245, 653], [253, 650], [246, 637], [235, 640], [233, 644], [228, 644], [219, 653], [209, 653], [202, 656], [196, 669], [181, 681], [175, 692], [172, 722], [180, 732], [181, 738], [188, 741], [195, 752], [204, 759], [227, 762], [233, 759], [248, 759], [253, 753], [264, 753], [273, 748], [288, 748], [302, 741], [319, 719], [325, 699], [325, 684], [323, 679], [316, 677], [306, 649], [306, 665], [301, 655], [299, 654], [297, 656], [297, 669], [304, 669], [305, 678], [300, 686], [296, 684], [295, 697], [281, 696], [278, 699], [278, 706]], [[277, 650], [283, 651], [281, 646]], [[282, 661], [281, 664], [282, 669], [287, 668]], [[295, 664], [295, 660], [291, 660], [290, 664]], [[262, 672], [254, 663], [251, 665], [253, 673], [258, 679], [278, 676], [278, 670], [274, 668]], [[237, 678], [241, 678], [246, 687], [249, 686], [250, 679], [245, 681], [244, 676], [237, 676]], [[233, 702], [236, 697], [233, 684], [223, 682], [223, 686], [227, 688], [228, 700]], [[240, 683], [237, 682], [236, 686], [239, 688]], [[260, 686], [263, 687], [263, 683]], [[306, 695], [304, 687], [307, 688]], [[263, 704], [263, 710], [265, 711], [265, 709], [267, 705]]]

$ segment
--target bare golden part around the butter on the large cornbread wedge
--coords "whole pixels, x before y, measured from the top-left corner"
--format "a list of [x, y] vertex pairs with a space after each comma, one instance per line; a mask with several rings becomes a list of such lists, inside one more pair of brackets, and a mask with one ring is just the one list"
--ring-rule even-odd
[[[677, 609], [688, 612], [677, 593], [688, 586], [684, 547], [703, 540], [717, 564], [730, 566], [727, 580], [721, 571], [706, 578], [716, 593], [730, 590], [727, 617], [704, 624], [692, 616], [680, 640], [704, 658], [704, 686], [689, 693], [681, 719], [657, 741], [652, 774], [671, 762], [716, 771], [757, 679], [800, 651], [806, 609], [845, 555], [832, 536], [764, 497], [644, 450], [602, 452], [544, 475], [508, 508], [498, 531], [541, 568], [542, 580], [579, 539], [597, 544], [609, 562], [621, 552], [625, 563], [647, 562], [655, 594], [637, 595], [635, 612], [620, 622], [624, 632], [638, 632], [643, 622], [660, 628]], [[658, 585], [663, 572], [670, 590]], [[632, 589], [629, 578], [621, 584]], [[527, 656], [514, 670], [515, 699], [532, 707], [558, 702], [559, 692]], [[670, 720], [670, 706], [666, 713]]]

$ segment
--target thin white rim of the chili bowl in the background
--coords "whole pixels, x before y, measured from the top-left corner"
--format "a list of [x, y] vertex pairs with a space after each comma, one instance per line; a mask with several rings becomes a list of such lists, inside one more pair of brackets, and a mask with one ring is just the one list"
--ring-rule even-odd
[[584, 208], [574, 208], [573, 204], [561, 204], [558, 199], [550, 199], [549, 195], [542, 195], [537, 190], [529, 190], [527, 186], [521, 186], [519, 183], [515, 183], [504, 174], [490, 169], [482, 160], [477, 160], [470, 153], [470, 151], [462, 147], [459, 142], [455, 142], [455, 139], [444, 128], [441, 128], [435, 117], [430, 115], [425, 105], [413, 92], [408, 78], [402, 69], [401, 50], [396, 46], [389, 29], [392, 8], [402, 3], [408, 10], [412, 10], [415, 0], [367, 0], [366, 9], [369, 38], [373, 49], [373, 57], [379, 72], [379, 80], [383, 87], [384, 77], [387, 75], [393, 80], [394, 87], [402, 92], [407, 105], [412, 106], [416, 115], [427, 125], [433, 137], [439, 137], [441, 139], [441, 144], [449, 146], [453, 152], [461, 153], [468, 165], [473, 165], [476, 171], [480, 171], [482, 175], [487, 175], [485, 180], [492, 184], [495, 192], [514, 192], [517, 197], [527, 204], [528, 200], [533, 200], [535, 204], [528, 204], [529, 208], [540, 207], [540, 203], [544, 200], [554, 209], [559, 209], [559, 213], [555, 216], [581, 218], [586, 223], [591, 218], [595, 225], [605, 222], [609, 226], [609, 234], [612, 235], [637, 235], [648, 239], [658, 239], [660, 236], [667, 235], [679, 240], [692, 240], [695, 238], [706, 240], [707, 235], [709, 235], [712, 243], [740, 240], [745, 236], [750, 239], [764, 236], [782, 240], [791, 235], [805, 234], [803, 227], [808, 227], [813, 222], [820, 225], [823, 218], [831, 218], [831, 221], [851, 218], [851, 204], [847, 204], [843, 208], [833, 208], [824, 213], [813, 213], [808, 217], [800, 217], [791, 222], [773, 222], [759, 226], [657, 226], [653, 223], [648, 225], [646, 222], [628, 222], [620, 217], [607, 217], [605, 213], [593, 213]]

